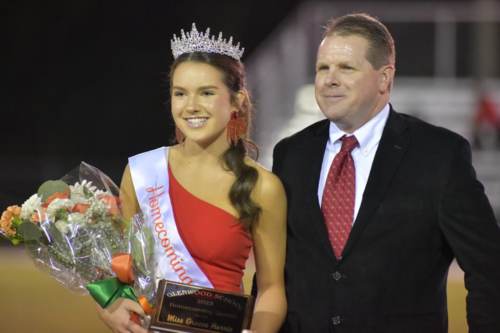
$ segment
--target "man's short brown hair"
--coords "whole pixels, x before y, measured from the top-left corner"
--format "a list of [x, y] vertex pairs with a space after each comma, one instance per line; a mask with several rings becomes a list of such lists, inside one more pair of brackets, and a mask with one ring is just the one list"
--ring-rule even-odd
[[331, 19], [324, 29], [322, 39], [331, 35], [364, 37], [368, 41], [366, 60], [374, 69], [386, 64], [395, 65], [394, 40], [389, 30], [368, 14], [349, 14]]

